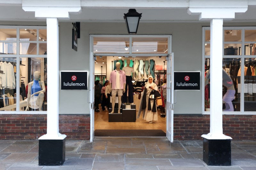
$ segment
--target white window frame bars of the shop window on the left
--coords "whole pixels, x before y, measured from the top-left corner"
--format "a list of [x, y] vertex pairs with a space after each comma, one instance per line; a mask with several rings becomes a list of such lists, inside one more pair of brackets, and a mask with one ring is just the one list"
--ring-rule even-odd
[[[16, 75], [20, 74], [20, 57], [23, 58], [47, 58], [47, 55], [39, 55], [39, 44], [46, 43], [47, 41], [39, 41], [39, 30], [46, 29], [46, 26], [0, 26], [0, 29], [16, 29], [16, 41], [0, 41], [17, 43], [17, 54], [1, 54], [0, 57], [13, 57], [16, 58]], [[36, 41], [20, 41], [20, 29], [36, 29]], [[36, 55], [20, 55], [20, 43], [36, 43]], [[17, 85], [20, 84], [20, 76], [16, 76], [16, 94], [20, 94], [20, 88]], [[47, 114], [47, 111], [20, 111], [20, 98], [16, 96], [16, 111], [1, 111], [0, 114]], [[18, 109], [17, 109], [18, 108]]]

